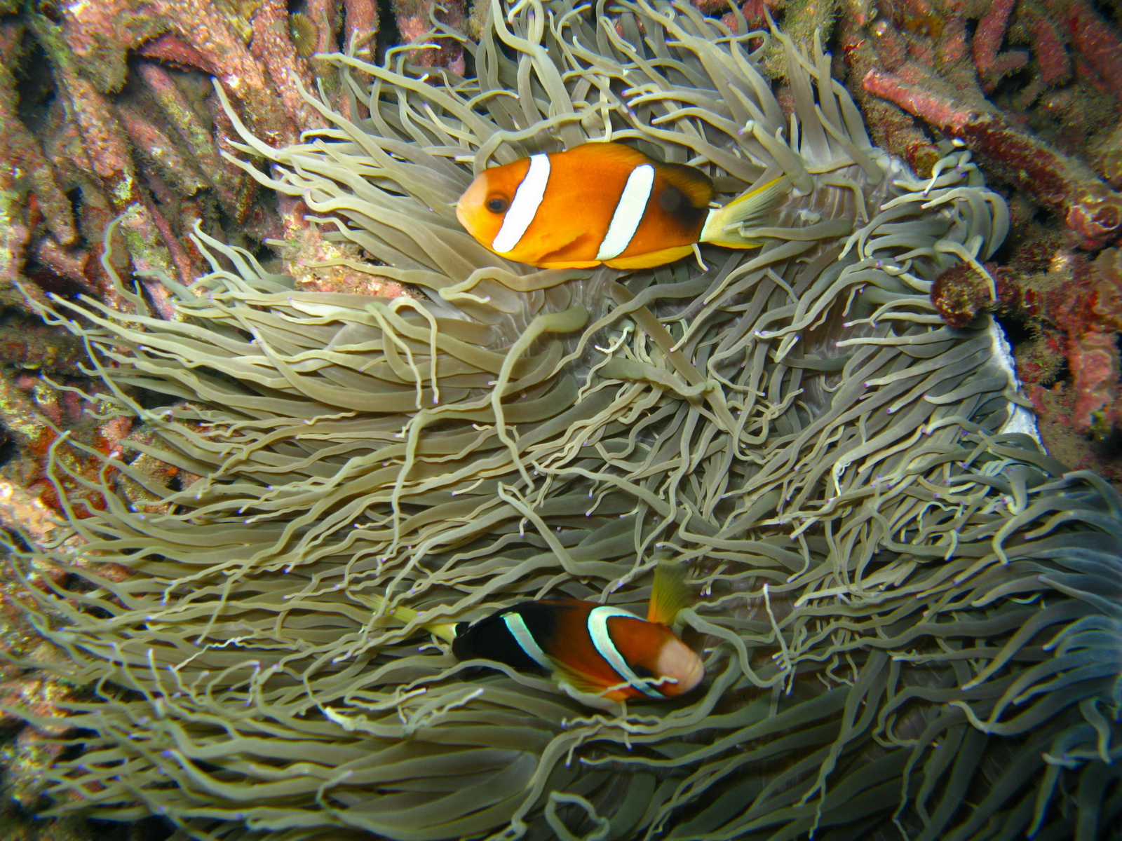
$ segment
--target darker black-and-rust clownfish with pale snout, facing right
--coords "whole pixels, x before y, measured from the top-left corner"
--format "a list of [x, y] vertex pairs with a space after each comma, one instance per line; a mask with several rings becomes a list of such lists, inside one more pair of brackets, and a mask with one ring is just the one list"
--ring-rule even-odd
[[457, 625], [452, 654], [543, 668], [611, 701], [673, 697], [705, 677], [701, 658], [666, 627], [684, 601], [681, 579], [660, 566], [646, 619], [577, 599], [524, 601]]

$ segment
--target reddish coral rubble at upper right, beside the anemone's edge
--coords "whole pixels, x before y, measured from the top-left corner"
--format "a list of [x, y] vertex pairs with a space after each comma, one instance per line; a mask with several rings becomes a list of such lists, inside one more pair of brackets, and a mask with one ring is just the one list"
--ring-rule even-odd
[[[923, 174], [965, 146], [1008, 191], [1010, 241], [990, 266], [941, 278], [948, 323], [995, 312], [1024, 334], [1022, 378], [1045, 443], [1122, 479], [1122, 35], [1088, 0], [845, 0], [847, 83], [876, 142]], [[1102, 249], [1106, 249], [1103, 251]]]

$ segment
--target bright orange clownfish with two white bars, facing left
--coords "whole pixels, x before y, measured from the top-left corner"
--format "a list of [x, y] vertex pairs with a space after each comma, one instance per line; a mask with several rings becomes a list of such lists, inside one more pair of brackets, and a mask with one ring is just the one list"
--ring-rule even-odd
[[780, 176], [710, 207], [712, 179], [700, 169], [592, 142], [485, 170], [460, 196], [456, 218], [495, 253], [539, 268], [643, 269], [698, 242], [761, 244], [742, 229], [764, 223], [788, 186]]

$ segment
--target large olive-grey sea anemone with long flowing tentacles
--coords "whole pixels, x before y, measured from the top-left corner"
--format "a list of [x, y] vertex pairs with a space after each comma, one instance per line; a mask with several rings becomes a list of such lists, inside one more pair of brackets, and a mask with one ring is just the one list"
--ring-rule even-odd
[[[332, 128], [284, 149], [243, 131], [243, 166], [421, 293], [298, 292], [200, 233], [213, 271], [168, 284], [175, 321], [123, 285], [132, 312], [44, 311], [181, 477], [70, 477], [100, 497], [64, 502], [84, 562], [28, 589], [89, 687], [58, 811], [280, 841], [1110, 825], [1122, 500], [1027, 434], [988, 318], [949, 327], [928, 294], [987, 277], [1004, 203], [962, 149], [919, 181], [874, 148], [818, 44], [785, 41], [776, 98], [766, 37], [530, 0], [493, 4], [470, 78], [337, 56], [349, 115], [312, 99]], [[791, 192], [709, 268], [531, 270], [457, 224], [482, 168], [607, 137], [726, 200]], [[544, 595], [641, 610], [663, 561], [709, 675], [672, 702], [424, 634]]]

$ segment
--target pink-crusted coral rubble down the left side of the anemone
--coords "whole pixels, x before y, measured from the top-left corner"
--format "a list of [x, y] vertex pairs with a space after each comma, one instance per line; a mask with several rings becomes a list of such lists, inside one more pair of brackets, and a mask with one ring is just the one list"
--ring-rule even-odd
[[[82, 506], [101, 503], [82, 491], [101, 462], [57, 446], [62, 435], [116, 458], [148, 434], [134, 428], [131, 418], [101, 416], [96, 387], [80, 369], [84, 349], [33, 321], [28, 297], [43, 303], [50, 295], [85, 295], [128, 308], [110, 283], [108, 260], [129, 285], [140, 285], [157, 312], [172, 317], [164, 279], [190, 284], [208, 268], [192, 240], [196, 227], [247, 248], [302, 288], [402, 293], [376, 266], [365, 265], [356, 247], [325, 239], [305, 219], [303, 202], [260, 191], [223, 157], [238, 136], [215, 83], [257, 137], [274, 146], [292, 144], [302, 131], [324, 124], [301, 87], [320, 90], [346, 110], [335, 70], [316, 54], [346, 48], [375, 58], [394, 46], [379, 35], [377, 0], [304, 0], [292, 13], [289, 6], [284, 0], [0, 0], [0, 327], [6, 331], [0, 443], [7, 449], [0, 526], [49, 540], [62, 517], [59, 491], [79, 500], [70, 516], [82, 517]], [[461, 2], [403, 0], [395, 18], [412, 40], [441, 28], [435, 47], [419, 46], [416, 57], [427, 66], [463, 71], [460, 41], [449, 35], [466, 29]], [[105, 232], [114, 219], [107, 252]], [[47, 478], [52, 459], [62, 468], [61, 487]], [[130, 456], [130, 463], [153, 477], [174, 470], [144, 455]], [[180, 479], [188, 481], [186, 474]], [[116, 481], [144, 497], [139, 483]], [[42, 571], [45, 580], [62, 574]], [[0, 654], [44, 660], [50, 655], [36, 648], [34, 629], [12, 619], [24, 613], [10, 609], [16, 585], [8, 575], [0, 573]], [[58, 704], [72, 694], [36, 671], [0, 666], [0, 702], [9, 710], [58, 718], [64, 714]], [[4, 713], [0, 724], [19, 727], [18, 717]], [[6, 802], [13, 797], [28, 810], [42, 805], [42, 768], [55, 756], [55, 736], [34, 723], [10, 730], [0, 745]], [[26, 832], [17, 824], [0, 805], [0, 825], [21, 838], [94, 837], [66, 821], [40, 821]]]

